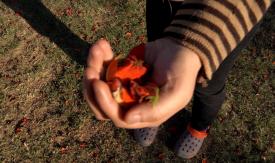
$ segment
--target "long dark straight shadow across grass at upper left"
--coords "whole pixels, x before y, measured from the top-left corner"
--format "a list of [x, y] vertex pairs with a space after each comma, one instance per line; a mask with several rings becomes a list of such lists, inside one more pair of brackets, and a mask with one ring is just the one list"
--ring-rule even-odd
[[85, 65], [90, 44], [74, 34], [39, 0], [2, 0], [24, 18], [39, 34], [46, 36], [72, 60]]

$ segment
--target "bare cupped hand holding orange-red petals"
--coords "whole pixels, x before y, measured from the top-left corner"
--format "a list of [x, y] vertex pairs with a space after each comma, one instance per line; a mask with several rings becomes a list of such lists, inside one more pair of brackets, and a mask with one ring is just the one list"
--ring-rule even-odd
[[153, 68], [153, 81], [160, 87], [155, 105], [141, 103], [129, 109], [119, 107], [102, 77], [113, 56], [111, 46], [105, 40], [96, 42], [89, 52], [83, 93], [97, 119], [111, 119], [120, 128], [155, 127], [191, 100], [201, 62], [198, 55], [172, 38], [146, 44], [145, 62]]

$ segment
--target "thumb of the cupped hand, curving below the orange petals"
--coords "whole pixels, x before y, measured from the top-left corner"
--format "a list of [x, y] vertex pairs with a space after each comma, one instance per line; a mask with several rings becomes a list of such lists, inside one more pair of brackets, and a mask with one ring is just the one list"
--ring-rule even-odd
[[153, 127], [168, 120], [190, 101], [190, 91], [177, 86], [178, 83], [177, 80], [168, 82], [161, 89], [159, 99], [155, 105], [148, 102], [131, 108], [125, 115], [125, 122], [135, 126], [142, 126], [147, 123]]

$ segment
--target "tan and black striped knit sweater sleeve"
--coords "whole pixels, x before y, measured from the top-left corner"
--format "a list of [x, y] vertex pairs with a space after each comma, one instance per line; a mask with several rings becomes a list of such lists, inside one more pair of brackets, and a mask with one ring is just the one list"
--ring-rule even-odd
[[198, 54], [208, 80], [272, 0], [185, 0], [165, 35]]

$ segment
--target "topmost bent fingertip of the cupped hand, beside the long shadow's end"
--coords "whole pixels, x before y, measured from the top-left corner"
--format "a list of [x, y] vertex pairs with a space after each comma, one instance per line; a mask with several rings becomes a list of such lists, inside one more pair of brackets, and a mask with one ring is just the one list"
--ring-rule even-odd
[[106, 40], [101, 39], [90, 48], [87, 65], [88, 67], [93, 67], [98, 73], [100, 73], [104, 62], [108, 62], [112, 58], [113, 51], [110, 44]]

